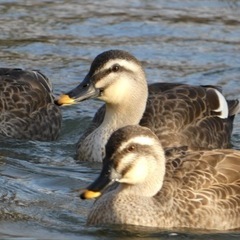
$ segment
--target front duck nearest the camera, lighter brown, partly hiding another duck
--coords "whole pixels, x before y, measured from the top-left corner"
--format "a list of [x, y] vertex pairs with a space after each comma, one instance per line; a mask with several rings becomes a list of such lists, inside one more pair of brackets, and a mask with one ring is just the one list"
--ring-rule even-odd
[[239, 229], [240, 151], [163, 149], [149, 128], [125, 126], [110, 136], [101, 173], [80, 197], [96, 198], [89, 226]]

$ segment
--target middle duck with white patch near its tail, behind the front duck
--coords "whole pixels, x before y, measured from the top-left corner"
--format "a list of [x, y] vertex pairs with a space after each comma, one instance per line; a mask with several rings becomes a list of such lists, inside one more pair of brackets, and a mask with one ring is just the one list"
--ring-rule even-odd
[[226, 100], [216, 86], [148, 85], [140, 61], [123, 50], [99, 54], [84, 80], [56, 103], [67, 106], [92, 98], [105, 104], [77, 143], [79, 161], [101, 162], [111, 133], [134, 124], [150, 128], [164, 147], [228, 148], [240, 109], [239, 100]]

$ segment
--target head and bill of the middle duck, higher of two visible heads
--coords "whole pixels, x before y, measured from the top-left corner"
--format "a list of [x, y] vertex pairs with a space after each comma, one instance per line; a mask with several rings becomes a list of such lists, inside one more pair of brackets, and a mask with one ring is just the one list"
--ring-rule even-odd
[[[91, 64], [84, 80], [71, 91], [62, 94], [58, 105], [69, 105], [97, 98], [106, 103], [118, 104], [127, 94], [143, 89], [147, 98], [147, 83], [141, 63], [130, 53], [109, 50], [99, 54]], [[143, 93], [139, 93], [144, 98]]]

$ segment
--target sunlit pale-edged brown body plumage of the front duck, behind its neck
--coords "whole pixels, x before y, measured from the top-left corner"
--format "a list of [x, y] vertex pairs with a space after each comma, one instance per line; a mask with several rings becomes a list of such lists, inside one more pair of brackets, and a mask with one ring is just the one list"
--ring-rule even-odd
[[155, 200], [175, 227], [240, 228], [239, 151], [186, 152], [167, 160]]

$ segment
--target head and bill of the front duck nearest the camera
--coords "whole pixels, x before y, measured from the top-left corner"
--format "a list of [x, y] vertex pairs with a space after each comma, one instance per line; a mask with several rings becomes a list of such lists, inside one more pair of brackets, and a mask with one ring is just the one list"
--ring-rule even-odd
[[165, 155], [155, 134], [138, 125], [126, 126], [111, 135], [102, 171], [80, 198], [99, 197], [114, 182], [120, 183], [121, 191], [153, 196], [162, 187], [164, 174]]

